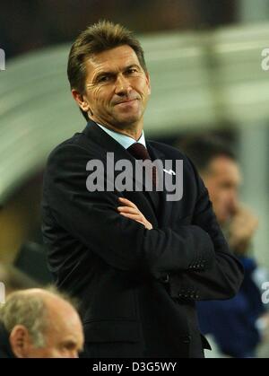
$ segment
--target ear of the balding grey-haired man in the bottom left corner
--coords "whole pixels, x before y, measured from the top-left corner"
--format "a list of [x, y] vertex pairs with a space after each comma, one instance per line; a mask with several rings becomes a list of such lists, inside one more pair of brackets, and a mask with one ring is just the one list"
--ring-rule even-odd
[[17, 358], [24, 358], [27, 352], [27, 347], [30, 344], [30, 337], [27, 328], [23, 325], [16, 325], [9, 337], [9, 342], [13, 351], [13, 354]]

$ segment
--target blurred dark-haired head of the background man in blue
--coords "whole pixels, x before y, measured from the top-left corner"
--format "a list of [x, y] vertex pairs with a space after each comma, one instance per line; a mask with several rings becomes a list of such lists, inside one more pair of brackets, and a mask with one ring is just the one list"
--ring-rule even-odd
[[221, 137], [212, 135], [189, 136], [180, 144], [180, 149], [195, 163], [208, 188], [219, 223], [227, 226], [233, 216], [239, 214], [241, 177], [235, 153]]

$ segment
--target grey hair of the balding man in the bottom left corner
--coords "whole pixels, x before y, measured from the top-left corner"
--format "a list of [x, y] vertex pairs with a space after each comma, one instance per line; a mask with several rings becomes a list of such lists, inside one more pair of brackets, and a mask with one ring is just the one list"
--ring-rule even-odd
[[[58, 297], [70, 302], [70, 298], [56, 291], [54, 287], [46, 289]], [[46, 345], [45, 333], [48, 328], [48, 307], [41, 295], [27, 294], [22, 291], [11, 293], [4, 304], [0, 304], [0, 321], [8, 333], [16, 325], [22, 325], [29, 331], [33, 345], [42, 348]]]

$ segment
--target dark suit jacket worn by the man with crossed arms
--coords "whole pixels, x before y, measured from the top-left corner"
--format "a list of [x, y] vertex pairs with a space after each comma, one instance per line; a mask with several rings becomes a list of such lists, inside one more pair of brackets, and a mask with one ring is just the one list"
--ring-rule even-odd
[[[242, 280], [192, 163], [166, 144], [147, 148], [153, 159], [184, 161], [180, 201], [166, 201], [166, 192], [89, 192], [90, 160], [105, 163], [109, 152], [115, 162], [135, 162], [93, 122], [48, 158], [48, 263], [57, 286], [81, 301], [88, 356], [203, 356], [195, 302], [228, 299]], [[134, 202], [153, 229], [118, 214], [118, 197]]]

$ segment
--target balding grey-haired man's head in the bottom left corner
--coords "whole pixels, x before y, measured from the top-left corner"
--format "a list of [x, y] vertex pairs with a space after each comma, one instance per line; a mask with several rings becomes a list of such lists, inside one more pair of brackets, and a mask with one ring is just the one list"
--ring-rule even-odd
[[11, 293], [0, 308], [0, 358], [75, 358], [82, 345], [81, 320], [59, 293]]

